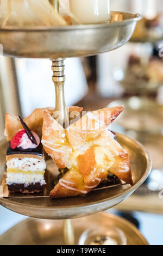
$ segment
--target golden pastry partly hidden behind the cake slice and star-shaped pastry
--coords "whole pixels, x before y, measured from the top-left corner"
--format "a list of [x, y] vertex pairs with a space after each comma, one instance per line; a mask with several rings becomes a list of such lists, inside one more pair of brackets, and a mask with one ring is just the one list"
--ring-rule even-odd
[[[24, 122], [28, 125], [31, 131], [34, 131], [41, 138], [42, 136], [42, 124], [43, 124], [43, 111], [46, 110], [49, 114], [53, 114], [54, 108], [36, 108], [29, 117], [24, 119]], [[70, 121], [77, 116], [83, 110], [82, 107], [71, 106], [67, 108], [67, 111], [70, 115]], [[10, 141], [11, 138], [20, 130], [23, 129], [23, 126], [20, 122], [20, 119], [13, 114], [7, 113], [5, 115], [5, 135], [7, 136], [7, 141]]]

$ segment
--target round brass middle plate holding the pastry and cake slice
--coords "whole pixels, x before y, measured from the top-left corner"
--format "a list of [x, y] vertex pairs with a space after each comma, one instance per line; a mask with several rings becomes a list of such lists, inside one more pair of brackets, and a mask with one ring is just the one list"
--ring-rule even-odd
[[[78, 218], [112, 208], [130, 196], [150, 173], [152, 161], [146, 149], [133, 139], [117, 134], [117, 140], [128, 151], [134, 186], [119, 186], [92, 191], [89, 194], [51, 200], [49, 198], [0, 198], [5, 208], [35, 218], [66, 219]], [[6, 142], [0, 143], [0, 181], [5, 172]]]

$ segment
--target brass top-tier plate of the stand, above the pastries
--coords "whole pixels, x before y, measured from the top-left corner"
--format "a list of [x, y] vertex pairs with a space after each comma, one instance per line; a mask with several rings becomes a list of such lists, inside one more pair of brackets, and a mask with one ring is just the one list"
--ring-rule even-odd
[[91, 56], [126, 44], [140, 19], [138, 14], [114, 11], [110, 23], [98, 25], [0, 29], [0, 44], [11, 57]]

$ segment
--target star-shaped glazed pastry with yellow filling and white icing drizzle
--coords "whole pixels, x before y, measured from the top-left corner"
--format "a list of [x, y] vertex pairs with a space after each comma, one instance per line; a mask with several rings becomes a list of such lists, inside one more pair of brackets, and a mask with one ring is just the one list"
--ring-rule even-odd
[[64, 175], [51, 198], [87, 194], [109, 173], [133, 185], [128, 153], [114, 139], [108, 126], [124, 106], [87, 113], [65, 130], [45, 111], [42, 144]]

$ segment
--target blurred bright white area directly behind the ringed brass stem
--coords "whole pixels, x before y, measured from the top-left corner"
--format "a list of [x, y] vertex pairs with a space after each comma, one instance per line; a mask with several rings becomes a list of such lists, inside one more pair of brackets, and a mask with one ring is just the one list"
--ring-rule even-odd
[[[52, 81], [52, 62], [49, 59], [16, 59], [18, 90], [23, 117], [39, 107], [55, 107], [55, 89]], [[87, 93], [87, 82], [78, 58], [65, 60], [66, 105], [71, 106]]]

